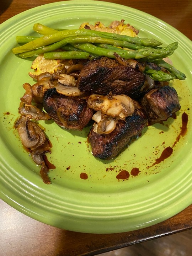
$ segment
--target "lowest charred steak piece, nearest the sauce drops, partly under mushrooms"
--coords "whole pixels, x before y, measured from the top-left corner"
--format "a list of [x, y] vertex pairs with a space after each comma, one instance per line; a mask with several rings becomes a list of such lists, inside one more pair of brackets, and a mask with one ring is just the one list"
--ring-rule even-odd
[[92, 127], [88, 135], [92, 154], [100, 159], [112, 159], [126, 148], [132, 139], [135, 139], [147, 124], [142, 107], [135, 102], [135, 111], [132, 116], [119, 120], [116, 128], [108, 134], [98, 134]]

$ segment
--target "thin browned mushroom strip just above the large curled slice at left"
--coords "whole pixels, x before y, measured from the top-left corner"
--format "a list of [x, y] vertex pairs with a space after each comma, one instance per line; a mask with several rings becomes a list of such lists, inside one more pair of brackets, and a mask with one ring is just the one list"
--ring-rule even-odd
[[40, 110], [38, 107], [23, 101], [20, 102], [18, 110], [22, 116], [31, 115], [31, 118], [35, 120], [48, 120], [51, 118], [46, 112]]

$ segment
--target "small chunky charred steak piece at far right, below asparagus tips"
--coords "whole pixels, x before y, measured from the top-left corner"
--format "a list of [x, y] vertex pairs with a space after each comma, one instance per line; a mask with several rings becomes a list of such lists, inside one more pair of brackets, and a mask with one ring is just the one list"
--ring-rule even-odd
[[177, 92], [170, 86], [150, 90], [142, 98], [141, 104], [149, 123], [164, 121], [181, 108]]

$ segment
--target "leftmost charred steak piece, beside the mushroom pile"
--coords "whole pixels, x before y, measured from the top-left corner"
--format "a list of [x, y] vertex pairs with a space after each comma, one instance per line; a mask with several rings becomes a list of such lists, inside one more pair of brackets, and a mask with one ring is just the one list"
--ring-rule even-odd
[[46, 91], [43, 107], [59, 126], [71, 130], [82, 130], [93, 115], [84, 98], [58, 94], [55, 88]]

